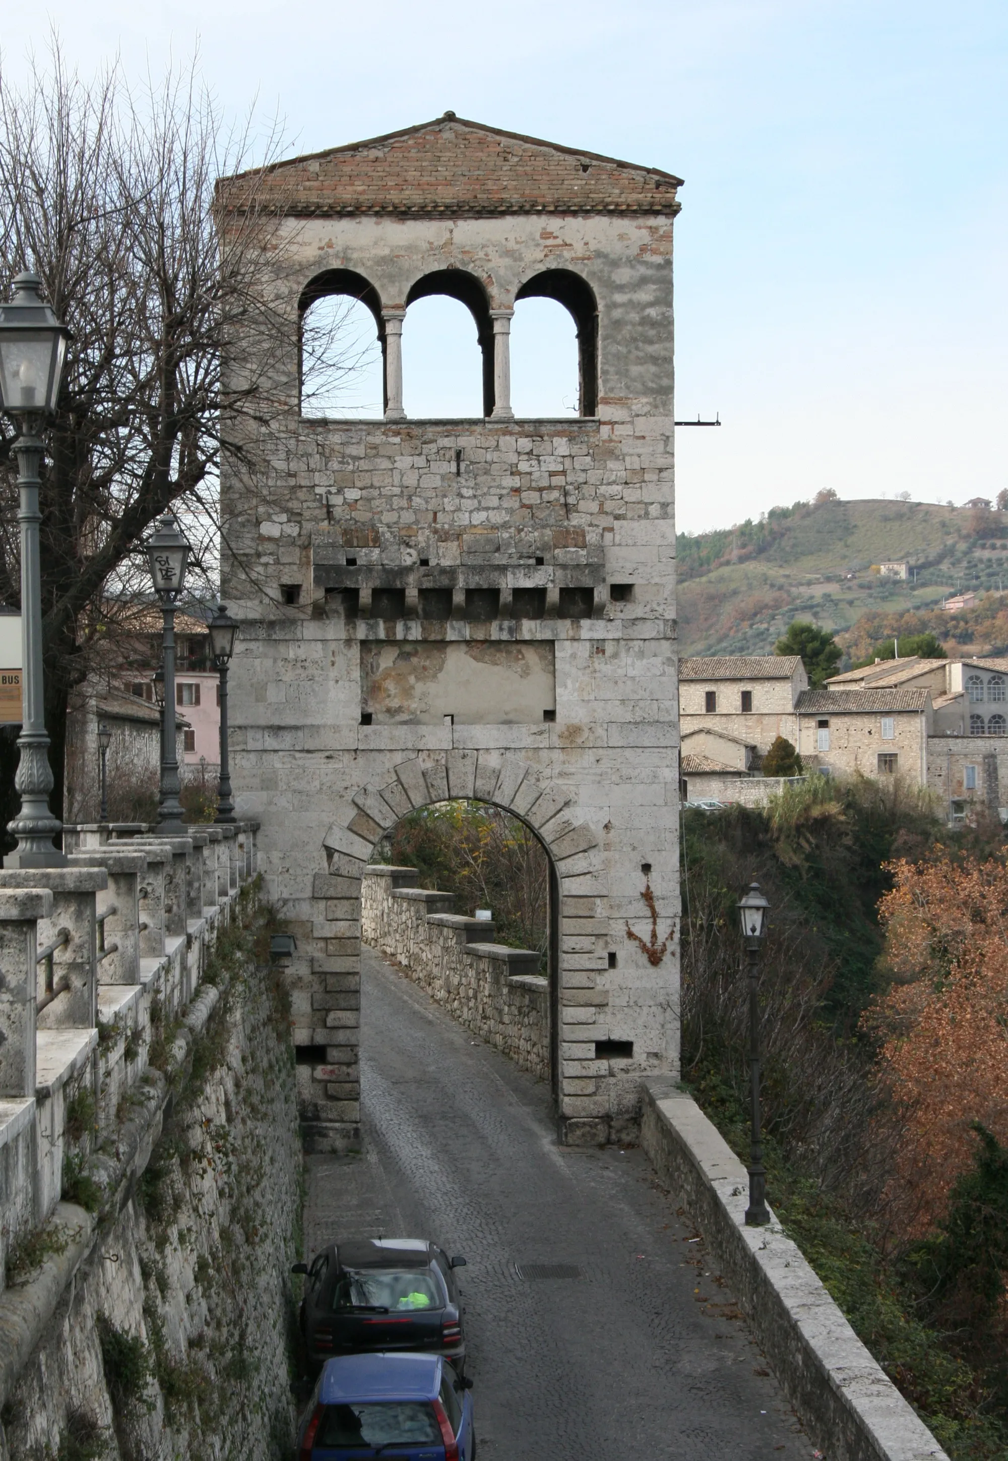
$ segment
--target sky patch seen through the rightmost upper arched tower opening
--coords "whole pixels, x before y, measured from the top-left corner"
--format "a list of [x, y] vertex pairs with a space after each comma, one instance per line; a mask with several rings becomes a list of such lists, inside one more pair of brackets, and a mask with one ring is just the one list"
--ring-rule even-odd
[[511, 406], [516, 416], [577, 415], [577, 326], [555, 300], [520, 300], [511, 321]]

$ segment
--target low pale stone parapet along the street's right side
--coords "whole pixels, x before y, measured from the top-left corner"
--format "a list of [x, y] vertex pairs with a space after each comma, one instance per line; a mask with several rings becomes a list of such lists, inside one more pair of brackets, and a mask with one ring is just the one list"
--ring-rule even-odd
[[717, 1255], [825, 1461], [948, 1461], [773, 1213], [767, 1227], [745, 1226], [747, 1169], [668, 1075], [644, 1078], [641, 1145]]

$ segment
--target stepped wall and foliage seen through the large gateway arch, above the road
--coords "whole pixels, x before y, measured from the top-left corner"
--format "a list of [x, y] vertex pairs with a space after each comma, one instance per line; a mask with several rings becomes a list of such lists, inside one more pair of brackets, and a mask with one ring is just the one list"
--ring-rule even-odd
[[[368, 884], [370, 880], [370, 884]], [[419, 806], [375, 844], [362, 942], [558, 1096], [558, 880], [535, 827], [473, 798]]]

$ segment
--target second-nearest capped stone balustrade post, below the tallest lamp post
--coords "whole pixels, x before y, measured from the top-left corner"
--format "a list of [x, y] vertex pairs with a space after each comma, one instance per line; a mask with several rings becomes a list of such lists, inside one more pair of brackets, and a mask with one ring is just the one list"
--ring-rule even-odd
[[[38, 871], [0, 872], [0, 888], [38, 887]], [[93, 1029], [98, 1023], [95, 894], [108, 887], [104, 868], [47, 868], [53, 912], [39, 919], [39, 948], [51, 948], [38, 979], [38, 1029]], [[51, 983], [50, 983], [51, 969]]]

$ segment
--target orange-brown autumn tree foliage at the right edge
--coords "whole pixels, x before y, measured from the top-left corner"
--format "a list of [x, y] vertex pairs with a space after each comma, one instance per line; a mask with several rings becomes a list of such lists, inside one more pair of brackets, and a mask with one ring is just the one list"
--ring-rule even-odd
[[890, 1188], [903, 1239], [932, 1232], [974, 1163], [974, 1124], [1008, 1144], [1008, 868], [891, 865], [879, 903], [891, 986], [865, 1024], [901, 1124]]

